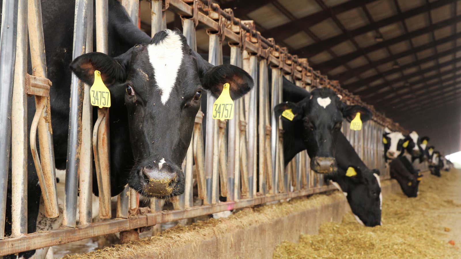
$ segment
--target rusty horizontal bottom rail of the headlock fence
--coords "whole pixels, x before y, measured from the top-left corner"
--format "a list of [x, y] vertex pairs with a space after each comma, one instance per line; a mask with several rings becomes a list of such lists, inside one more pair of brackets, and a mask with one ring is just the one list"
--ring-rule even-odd
[[45, 246], [53, 246], [78, 241], [98, 235], [107, 235], [118, 231], [132, 230], [149, 225], [181, 220], [184, 218], [194, 218], [201, 215], [223, 212], [229, 210], [230, 208], [239, 209], [244, 207], [256, 206], [276, 200], [292, 199], [310, 194], [331, 191], [334, 189], [335, 187], [330, 185], [319, 188], [311, 188], [307, 190], [288, 192], [283, 194], [258, 196], [254, 199], [220, 202], [216, 205], [195, 206], [188, 210], [174, 210], [147, 213], [133, 218], [114, 219], [75, 229], [65, 228], [51, 230], [45, 233], [33, 233], [27, 236], [8, 238], [5, 241], [0, 242], [0, 256], [18, 253], [20, 251], [30, 249], [38, 249]]

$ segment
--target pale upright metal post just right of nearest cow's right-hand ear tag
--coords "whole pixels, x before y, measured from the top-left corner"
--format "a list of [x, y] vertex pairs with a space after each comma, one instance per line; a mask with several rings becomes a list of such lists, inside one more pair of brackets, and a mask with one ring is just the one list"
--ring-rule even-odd
[[[231, 65], [242, 68], [242, 49], [239, 46], [231, 45]], [[229, 159], [228, 159], [228, 195], [227, 200], [240, 199], [240, 124], [245, 119], [241, 118], [242, 100], [235, 101], [234, 119], [229, 121]], [[244, 134], [244, 132], [243, 132]]]

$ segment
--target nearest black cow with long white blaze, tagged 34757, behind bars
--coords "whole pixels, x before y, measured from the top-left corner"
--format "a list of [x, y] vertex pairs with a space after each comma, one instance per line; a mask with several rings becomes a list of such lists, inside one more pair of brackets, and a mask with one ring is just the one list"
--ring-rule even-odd
[[[236, 99], [253, 87], [253, 80], [236, 66], [210, 65], [190, 49], [179, 31], [164, 30], [149, 37], [132, 24], [117, 0], [109, 0], [109, 54], [88, 53], [72, 61], [74, 4], [57, 0], [41, 4], [47, 72], [53, 82], [50, 103], [56, 167], [66, 166], [71, 71], [91, 85], [94, 71], [99, 70], [112, 102], [111, 194], [119, 194], [126, 183], [145, 196], [182, 194], [181, 163], [202, 91], [217, 96], [227, 82], [231, 97]], [[30, 65], [28, 70], [32, 74]], [[29, 127], [35, 113], [33, 103], [32, 97], [28, 100]], [[97, 118], [96, 109], [93, 118]], [[36, 230], [41, 191], [30, 148], [28, 151], [30, 233]], [[11, 169], [9, 179], [6, 235], [11, 233]], [[95, 176], [93, 191], [98, 194]], [[19, 257], [28, 258], [33, 253], [19, 253]]]

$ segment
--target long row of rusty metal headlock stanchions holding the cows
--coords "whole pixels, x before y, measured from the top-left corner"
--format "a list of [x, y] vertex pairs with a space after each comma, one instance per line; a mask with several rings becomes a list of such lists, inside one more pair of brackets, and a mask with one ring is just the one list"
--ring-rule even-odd
[[[139, 27], [139, 0], [120, 1], [132, 22]], [[214, 120], [211, 112], [204, 113], [201, 109], [195, 116], [190, 145], [182, 164], [185, 191], [171, 199], [173, 211], [163, 211], [164, 201], [154, 198], [150, 200], [149, 208], [140, 208], [139, 194], [126, 185], [122, 193], [118, 194], [116, 218], [92, 223], [93, 155], [99, 189], [99, 217], [113, 218], [109, 109], [98, 108], [98, 118], [93, 125], [89, 85], [73, 75], [63, 227], [25, 235], [28, 94], [35, 95], [37, 107], [30, 131], [30, 145], [46, 216], [59, 215], [49, 114], [51, 82], [46, 75], [40, 1], [4, 0], [0, 38], [0, 88], [4, 93], [0, 95], [0, 126], [4, 129], [0, 131], [0, 239], [4, 238], [11, 133], [13, 188], [12, 235], [0, 240], [0, 256], [115, 232], [121, 232], [122, 236], [128, 232], [146, 231], [151, 226], [154, 226], [153, 231], [156, 233], [160, 231], [160, 224], [166, 222], [181, 220], [180, 224], [186, 224], [187, 218], [333, 190], [333, 186], [324, 184], [323, 175], [310, 170], [310, 159], [306, 151], [298, 153], [288, 166], [284, 166], [284, 130], [280, 118], [276, 118], [273, 112], [273, 108], [283, 101], [284, 77], [308, 91], [312, 88], [331, 88], [341, 94], [348, 105], [368, 107], [373, 112], [372, 121], [364, 124], [361, 131], [350, 130], [350, 124], [344, 122], [342, 132], [366, 165], [378, 168], [381, 179], [390, 178], [389, 171], [384, 168], [384, 157], [380, 155], [384, 126], [408, 133], [405, 129], [363, 103], [358, 96], [341, 88], [339, 82], [314, 71], [307, 59], [291, 55], [272, 38], [261, 36], [253, 21], [242, 21], [234, 17], [231, 9], [222, 10], [210, 0], [152, 0], [152, 35], [166, 28], [166, 10], [180, 16], [183, 35], [193, 50], [197, 49], [196, 26], [205, 26], [209, 36], [208, 61], [212, 65], [223, 63], [223, 43], [227, 41], [229, 46], [226, 47], [231, 49], [231, 65], [247, 71], [254, 79], [254, 88], [235, 101], [235, 118], [232, 120]], [[107, 0], [76, 0], [74, 59], [93, 51], [94, 26], [98, 38], [96, 51], [108, 52], [107, 18]], [[32, 76], [26, 73], [28, 29], [32, 66], [36, 68]], [[11, 66], [13, 63], [15, 65]], [[272, 72], [271, 78], [268, 78], [269, 69]], [[271, 93], [268, 92], [269, 87]], [[212, 95], [207, 96], [208, 109], [213, 107], [214, 100]], [[205, 136], [202, 125], [204, 120], [207, 122]], [[40, 159], [35, 147], [36, 129], [41, 148]], [[194, 202], [195, 186], [198, 197]], [[80, 197], [78, 225], [77, 189]], [[219, 201], [220, 196], [227, 201]], [[200, 206], [197, 206], [197, 202]]]

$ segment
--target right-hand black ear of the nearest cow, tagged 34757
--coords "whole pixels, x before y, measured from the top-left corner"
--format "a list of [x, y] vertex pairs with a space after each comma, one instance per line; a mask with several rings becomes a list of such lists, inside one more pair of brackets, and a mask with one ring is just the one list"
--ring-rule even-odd
[[218, 97], [223, 91], [224, 84], [229, 83], [232, 100], [242, 97], [253, 88], [253, 78], [243, 69], [235, 65], [213, 66], [205, 61], [198, 53], [193, 51], [201, 84]]

